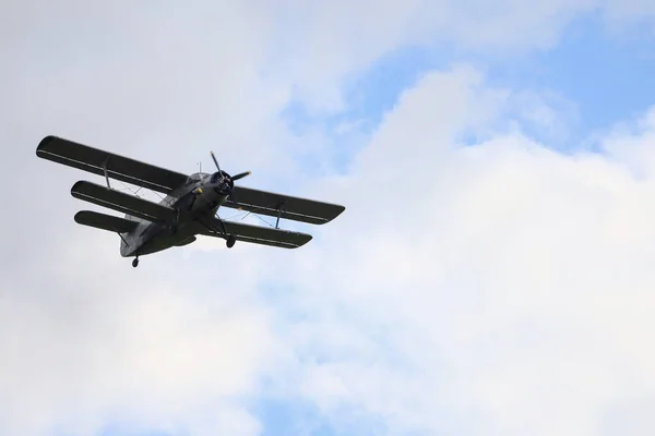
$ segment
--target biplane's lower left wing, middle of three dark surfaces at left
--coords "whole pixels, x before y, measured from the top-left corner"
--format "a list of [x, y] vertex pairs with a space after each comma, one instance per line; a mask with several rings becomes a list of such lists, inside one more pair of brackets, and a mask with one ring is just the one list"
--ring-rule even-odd
[[86, 181], [76, 182], [71, 195], [153, 222], [168, 221], [176, 215], [171, 207]]

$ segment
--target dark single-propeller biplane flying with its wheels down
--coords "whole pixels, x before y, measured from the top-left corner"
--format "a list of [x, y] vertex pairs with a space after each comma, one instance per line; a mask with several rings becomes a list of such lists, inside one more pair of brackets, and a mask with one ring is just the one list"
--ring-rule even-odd
[[[345, 210], [344, 206], [235, 185], [250, 171], [230, 175], [218, 165], [213, 173], [183, 174], [135, 159], [104, 152], [57, 136], [46, 136], [36, 148], [40, 158], [105, 177], [106, 186], [79, 181], [73, 197], [124, 214], [118, 217], [81, 210], [75, 222], [116, 232], [122, 257], [139, 257], [175, 246], [188, 245], [198, 235], [223, 238], [227, 247], [236, 241], [296, 249], [310, 234], [279, 228], [281, 219], [323, 225]], [[109, 179], [152, 190], [165, 197], [156, 203], [111, 187]], [[241, 209], [276, 218], [275, 227], [229, 221], [217, 216], [219, 207]]]

